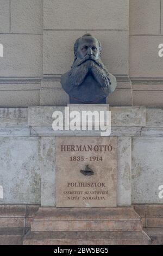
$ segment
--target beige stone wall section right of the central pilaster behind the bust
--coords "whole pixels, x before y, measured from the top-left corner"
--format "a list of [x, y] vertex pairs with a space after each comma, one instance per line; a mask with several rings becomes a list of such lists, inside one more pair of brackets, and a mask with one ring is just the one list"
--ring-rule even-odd
[[133, 105], [162, 107], [163, 1], [129, 0], [129, 77]]

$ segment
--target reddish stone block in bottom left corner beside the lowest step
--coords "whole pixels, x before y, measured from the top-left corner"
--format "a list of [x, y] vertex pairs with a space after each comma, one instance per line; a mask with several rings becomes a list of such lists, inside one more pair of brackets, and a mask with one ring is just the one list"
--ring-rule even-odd
[[22, 245], [24, 228], [0, 228], [0, 245]]

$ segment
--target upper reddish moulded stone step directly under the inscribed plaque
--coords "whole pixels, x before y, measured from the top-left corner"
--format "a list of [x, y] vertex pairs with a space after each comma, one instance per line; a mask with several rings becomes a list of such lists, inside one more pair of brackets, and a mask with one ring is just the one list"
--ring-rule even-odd
[[142, 231], [133, 208], [40, 208], [32, 231]]

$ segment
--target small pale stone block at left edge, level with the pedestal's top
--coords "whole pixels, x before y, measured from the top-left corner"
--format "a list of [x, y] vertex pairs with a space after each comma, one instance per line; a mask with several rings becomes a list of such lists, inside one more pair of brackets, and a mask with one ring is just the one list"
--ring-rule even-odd
[[28, 126], [27, 108], [0, 108], [0, 126]]

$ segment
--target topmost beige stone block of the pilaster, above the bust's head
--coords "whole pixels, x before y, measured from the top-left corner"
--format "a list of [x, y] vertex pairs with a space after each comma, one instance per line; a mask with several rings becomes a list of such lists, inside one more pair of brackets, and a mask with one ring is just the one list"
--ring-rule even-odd
[[128, 0], [46, 0], [44, 28], [127, 30]]

